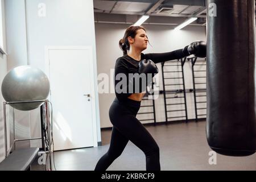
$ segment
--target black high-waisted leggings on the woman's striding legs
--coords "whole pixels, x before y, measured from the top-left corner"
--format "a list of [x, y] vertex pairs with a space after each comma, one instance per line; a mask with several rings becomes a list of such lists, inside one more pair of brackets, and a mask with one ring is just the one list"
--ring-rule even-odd
[[146, 155], [146, 170], [160, 171], [158, 144], [136, 118], [140, 106], [139, 101], [127, 99], [119, 102], [115, 98], [109, 109], [110, 122], [113, 124], [109, 150], [98, 161], [95, 171], [105, 171], [122, 154], [129, 140]]

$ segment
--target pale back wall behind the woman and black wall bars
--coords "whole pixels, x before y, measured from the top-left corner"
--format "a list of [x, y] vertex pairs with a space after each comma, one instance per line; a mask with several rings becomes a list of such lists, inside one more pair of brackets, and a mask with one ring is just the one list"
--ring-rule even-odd
[[[123, 37], [123, 34], [129, 24], [110, 24], [110, 23], [95, 23], [96, 27], [96, 47], [97, 47], [97, 67], [98, 74], [107, 73], [110, 77], [110, 69], [114, 69], [115, 60], [122, 56], [122, 51], [118, 47], [119, 40]], [[201, 26], [188, 26], [178, 32], [173, 31], [173, 26], [166, 25], [144, 25], [147, 31], [150, 45], [143, 51], [143, 53], [154, 52], [170, 52], [175, 49], [180, 49], [187, 46], [189, 43], [195, 40], [206, 40], [205, 27]], [[160, 90], [163, 90], [162, 84], [162, 71], [161, 65], [158, 64], [159, 72], [159, 85]], [[192, 71], [191, 63], [185, 63], [185, 84], [186, 89], [193, 88], [192, 85]], [[112, 77], [110, 77], [112, 79]], [[101, 82], [101, 81], [98, 81]], [[176, 89], [176, 88], [172, 88]], [[100, 117], [101, 127], [112, 127], [109, 121], [109, 107], [114, 100], [115, 94], [104, 93], [99, 94], [100, 98]], [[193, 102], [193, 94], [187, 94], [187, 107], [188, 107], [188, 119], [195, 118], [195, 109]], [[156, 104], [156, 122], [165, 121], [164, 114], [164, 100], [163, 94], [161, 94]], [[138, 116], [139, 119], [143, 119]], [[146, 122], [142, 122], [146, 123]]]

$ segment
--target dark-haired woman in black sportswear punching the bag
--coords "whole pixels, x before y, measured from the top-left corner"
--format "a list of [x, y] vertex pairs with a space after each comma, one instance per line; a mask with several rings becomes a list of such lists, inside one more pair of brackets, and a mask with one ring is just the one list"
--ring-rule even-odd
[[[109, 109], [110, 121], [113, 124], [112, 138], [108, 152], [98, 161], [95, 170], [105, 171], [115, 159], [122, 154], [126, 144], [130, 140], [146, 155], [146, 170], [160, 171], [159, 147], [154, 138], [136, 118], [146, 88], [142, 86], [139, 92], [134, 92], [134, 84], [129, 78], [129, 73], [158, 73], [155, 63], [168, 60], [176, 60], [194, 54], [197, 57], [205, 57], [206, 46], [204, 42], [194, 42], [184, 49], [178, 49], [166, 53], [148, 53], [142, 51], [147, 48], [148, 38], [146, 30], [142, 26], [130, 26], [125, 31], [125, 36], [119, 41], [123, 56], [115, 63], [115, 95], [116, 98]], [[152, 61], [151, 61], [152, 60]], [[125, 75], [128, 83], [119, 86], [118, 75]], [[138, 74], [137, 74], [138, 75]], [[118, 78], [117, 78], [118, 77]], [[129, 86], [133, 86], [133, 92], [129, 92]], [[120, 90], [125, 92], [120, 92]]]

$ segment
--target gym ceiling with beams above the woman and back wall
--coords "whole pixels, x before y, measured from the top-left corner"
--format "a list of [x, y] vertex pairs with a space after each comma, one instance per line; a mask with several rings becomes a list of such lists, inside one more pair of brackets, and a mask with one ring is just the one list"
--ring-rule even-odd
[[93, 0], [95, 22], [135, 23], [142, 15], [150, 15], [144, 24], [177, 25], [192, 16], [191, 23], [205, 26], [206, 0]]

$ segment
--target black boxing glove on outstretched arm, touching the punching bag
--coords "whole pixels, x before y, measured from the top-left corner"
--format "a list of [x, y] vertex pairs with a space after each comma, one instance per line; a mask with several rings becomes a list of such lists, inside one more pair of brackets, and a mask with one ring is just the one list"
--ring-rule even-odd
[[204, 41], [193, 42], [183, 49], [183, 52], [188, 52], [189, 55], [196, 57], [206, 57], [207, 46]]

